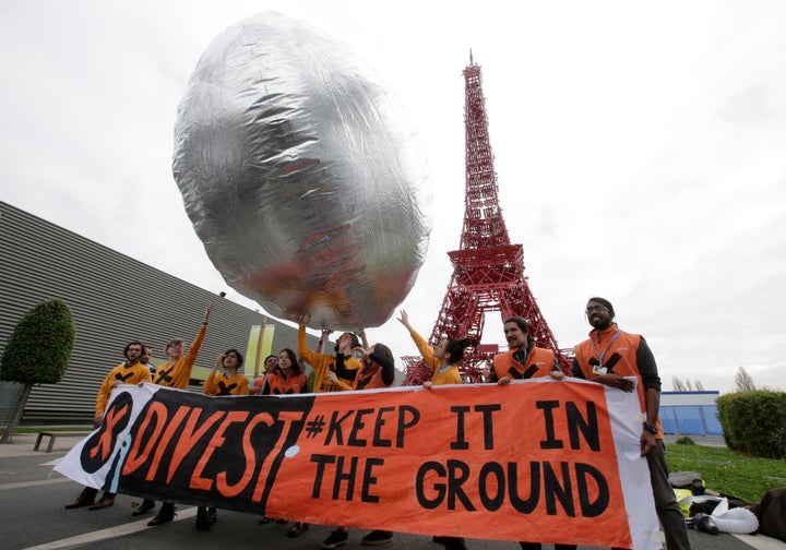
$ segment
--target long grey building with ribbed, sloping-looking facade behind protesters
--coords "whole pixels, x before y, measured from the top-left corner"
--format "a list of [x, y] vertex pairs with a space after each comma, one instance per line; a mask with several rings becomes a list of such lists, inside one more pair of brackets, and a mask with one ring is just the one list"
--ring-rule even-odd
[[[172, 337], [190, 343], [209, 302], [214, 302], [191, 386], [201, 391], [216, 356], [228, 348], [247, 354], [253, 378], [269, 349], [297, 348], [297, 330], [199, 288], [115, 250], [0, 202], [0, 354], [17, 321], [41, 301], [63, 299], [76, 324], [66, 376], [34, 386], [22, 423], [90, 423], [96, 393], [126, 344], [153, 348], [166, 360]], [[309, 336], [317, 346], [317, 337]], [[0, 423], [7, 421], [17, 384], [0, 382]]]

